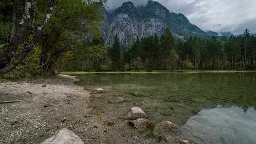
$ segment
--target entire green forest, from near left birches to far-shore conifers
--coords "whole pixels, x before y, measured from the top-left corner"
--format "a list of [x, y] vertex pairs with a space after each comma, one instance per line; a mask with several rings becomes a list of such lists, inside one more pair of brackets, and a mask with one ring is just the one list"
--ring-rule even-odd
[[105, 0], [1, 0], [0, 75], [29, 77], [63, 71], [256, 69], [256, 34], [161, 36], [105, 45], [99, 32]]

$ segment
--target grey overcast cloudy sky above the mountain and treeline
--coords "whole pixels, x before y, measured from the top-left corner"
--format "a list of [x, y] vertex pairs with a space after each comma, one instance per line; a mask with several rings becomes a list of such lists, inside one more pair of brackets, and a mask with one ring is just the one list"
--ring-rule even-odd
[[[145, 5], [148, 0], [108, 0], [108, 9], [123, 2]], [[192, 24], [204, 31], [231, 31], [240, 34], [245, 28], [256, 32], [256, 0], [154, 0], [175, 13], [183, 13]]]

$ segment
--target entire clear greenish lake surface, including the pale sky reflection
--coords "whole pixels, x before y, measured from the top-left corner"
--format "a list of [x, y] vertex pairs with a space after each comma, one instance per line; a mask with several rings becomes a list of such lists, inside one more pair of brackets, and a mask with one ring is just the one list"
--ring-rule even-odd
[[[256, 144], [256, 74], [154, 73], [78, 75], [88, 90], [129, 99], [152, 122], [178, 124], [199, 144]], [[139, 97], [132, 95], [138, 92]], [[105, 102], [105, 101], [102, 101]]]

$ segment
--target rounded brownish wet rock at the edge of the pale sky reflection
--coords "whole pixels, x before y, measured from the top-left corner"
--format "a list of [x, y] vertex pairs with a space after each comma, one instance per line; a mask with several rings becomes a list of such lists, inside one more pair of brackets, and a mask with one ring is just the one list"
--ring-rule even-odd
[[175, 136], [181, 136], [181, 130], [179, 126], [170, 121], [163, 121], [156, 124], [153, 128], [153, 135], [159, 136], [165, 140], [168, 140]]

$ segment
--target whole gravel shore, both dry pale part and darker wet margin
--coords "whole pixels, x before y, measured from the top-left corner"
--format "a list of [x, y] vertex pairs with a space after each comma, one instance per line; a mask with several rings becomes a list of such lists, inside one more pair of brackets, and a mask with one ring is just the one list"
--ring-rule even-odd
[[[61, 128], [85, 144], [162, 144], [151, 129], [135, 129], [119, 119], [132, 103], [110, 104], [116, 97], [92, 94], [73, 84], [73, 76], [0, 83], [0, 144], [38, 144]], [[129, 107], [127, 107], [129, 106]], [[110, 122], [111, 125], [107, 125]]]

